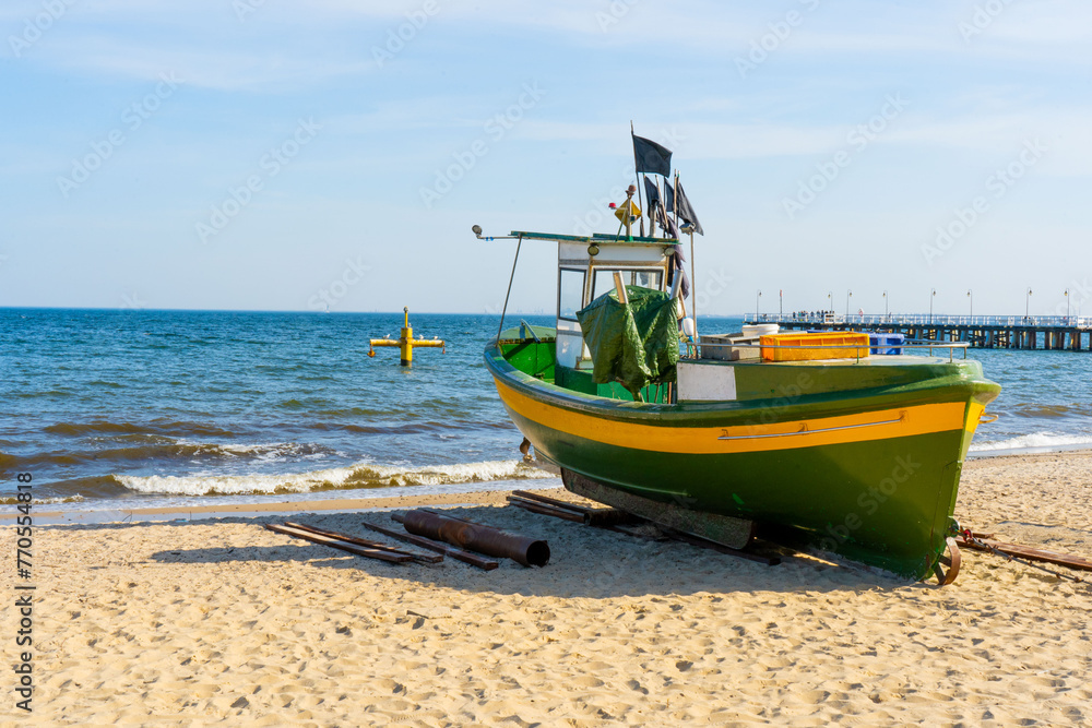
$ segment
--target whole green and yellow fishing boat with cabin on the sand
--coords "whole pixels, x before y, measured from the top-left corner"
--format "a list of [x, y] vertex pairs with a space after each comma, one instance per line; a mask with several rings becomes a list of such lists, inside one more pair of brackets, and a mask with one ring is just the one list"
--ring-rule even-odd
[[700, 335], [677, 232], [692, 264], [696, 220], [678, 228], [682, 200], [661, 203], [652, 235], [633, 235], [634, 191], [614, 235], [505, 236], [513, 277], [524, 242], [557, 246], [555, 326], [506, 330], [502, 313], [485, 349], [524, 452], [575, 493], [702, 538], [738, 548], [759, 534], [950, 583], [960, 472], [1000, 386], [956, 356], [965, 345], [922, 344], [943, 354], [926, 356], [852, 332]]

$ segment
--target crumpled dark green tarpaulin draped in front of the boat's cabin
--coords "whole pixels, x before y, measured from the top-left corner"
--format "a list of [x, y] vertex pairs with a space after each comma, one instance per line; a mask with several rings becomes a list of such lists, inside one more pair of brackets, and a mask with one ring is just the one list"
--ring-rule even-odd
[[667, 294], [626, 286], [629, 305], [610, 290], [577, 311], [592, 353], [592, 380], [619, 382], [638, 398], [649, 384], [675, 381], [679, 332], [675, 301]]

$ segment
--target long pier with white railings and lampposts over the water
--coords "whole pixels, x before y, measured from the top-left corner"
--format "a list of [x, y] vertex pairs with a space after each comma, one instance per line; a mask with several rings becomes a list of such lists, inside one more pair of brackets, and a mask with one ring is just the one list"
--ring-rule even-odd
[[790, 331], [890, 332], [907, 339], [966, 342], [978, 349], [1092, 351], [1092, 319], [1078, 317], [759, 313], [745, 315], [744, 322], [775, 323]]

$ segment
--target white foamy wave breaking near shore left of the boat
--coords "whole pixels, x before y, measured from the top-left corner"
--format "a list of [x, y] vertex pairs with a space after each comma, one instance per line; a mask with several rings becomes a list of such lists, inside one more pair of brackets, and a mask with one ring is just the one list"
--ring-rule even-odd
[[443, 486], [553, 477], [555, 476], [521, 461], [485, 461], [424, 467], [357, 464], [290, 475], [114, 476], [131, 491], [156, 496], [275, 496], [334, 489]]

